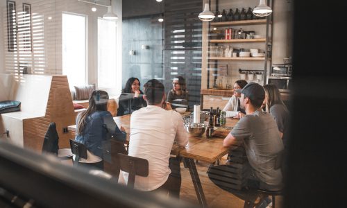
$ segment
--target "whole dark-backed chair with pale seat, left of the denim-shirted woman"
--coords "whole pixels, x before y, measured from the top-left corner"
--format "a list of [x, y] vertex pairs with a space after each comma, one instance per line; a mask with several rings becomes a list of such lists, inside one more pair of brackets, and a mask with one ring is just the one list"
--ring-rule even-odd
[[49, 123], [46, 135], [44, 135], [44, 144], [42, 146], [42, 153], [53, 153], [57, 155], [59, 159], [72, 159], [71, 149], [63, 148], [59, 149], [59, 136], [56, 129], [56, 123]]

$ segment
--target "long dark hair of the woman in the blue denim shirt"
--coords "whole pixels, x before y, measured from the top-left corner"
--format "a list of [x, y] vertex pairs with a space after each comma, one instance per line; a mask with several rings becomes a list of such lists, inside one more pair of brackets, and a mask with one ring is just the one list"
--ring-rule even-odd
[[83, 134], [85, 130], [87, 116], [96, 111], [106, 111], [108, 110], [108, 93], [103, 90], [94, 90], [89, 97], [89, 106], [87, 110], [79, 114], [79, 119], [77, 121], [78, 128], [76, 130], [77, 135]]

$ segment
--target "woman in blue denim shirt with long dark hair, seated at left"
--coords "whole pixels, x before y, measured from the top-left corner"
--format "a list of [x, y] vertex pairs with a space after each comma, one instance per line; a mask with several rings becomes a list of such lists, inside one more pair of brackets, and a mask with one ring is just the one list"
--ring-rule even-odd
[[[88, 164], [92, 161], [98, 168], [103, 169], [103, 144], [112, 135], [118, 141], [126, 140], [126, 132], [120, 130], [107, 110], [108, 93], [94, 90], [90, 94], [87, 110], [78, 114], [76, 118], [75, 140], [87, 148], [87, 161], [80, 159], [80, 163]], [[97, 163], [96, 163], [97, 162]]]

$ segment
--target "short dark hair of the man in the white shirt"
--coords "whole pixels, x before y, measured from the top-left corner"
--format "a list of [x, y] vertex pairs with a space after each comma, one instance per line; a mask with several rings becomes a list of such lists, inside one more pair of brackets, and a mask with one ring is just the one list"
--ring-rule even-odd
[[164, 85], [158, 80], [152, 79], [144, 84], [144, 94], [146, 95], [149, 105], [157, 105], [162, 101], [164, 96]]

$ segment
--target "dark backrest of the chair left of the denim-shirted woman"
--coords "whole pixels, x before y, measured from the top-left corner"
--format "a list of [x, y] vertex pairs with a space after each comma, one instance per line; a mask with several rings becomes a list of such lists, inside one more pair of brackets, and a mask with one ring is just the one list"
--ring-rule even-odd
[[59, 149], [58, 142], [59, 142], [59, 136], [56, 129], [56, 123], [51, 122], [49, 123], [46, 135], [44, 135], [42, 153], [46, 152], [46, 153], [53, 153], [55, 155], [58, 155], [58, 149]]

